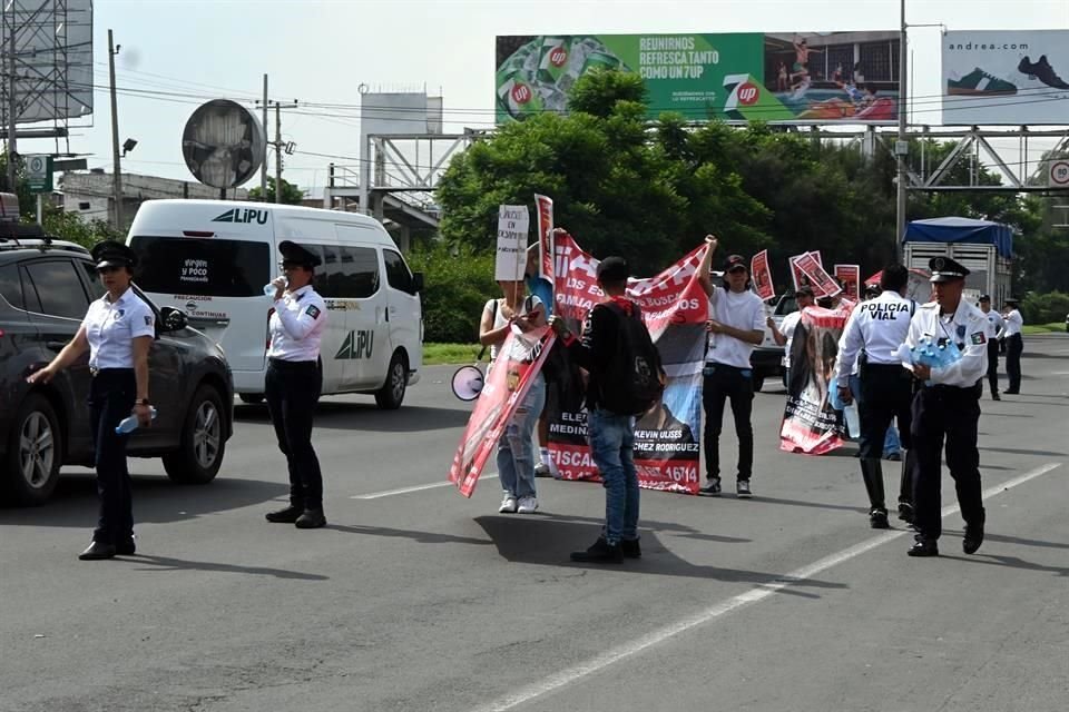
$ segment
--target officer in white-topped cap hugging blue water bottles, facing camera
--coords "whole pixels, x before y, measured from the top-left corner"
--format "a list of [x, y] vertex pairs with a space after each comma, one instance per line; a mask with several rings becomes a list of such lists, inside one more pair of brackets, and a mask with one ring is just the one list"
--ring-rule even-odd
[[985, 513], [980, 488], [980, 453], [977, 427], [980, 422], [980, 380], [988, 368], [988, 318], [962, 299], [969, 270], [950, 257], [935, 257], [932, 271], [933, 301], [918, 307], [910, 322], [905, 345], [914, 348], [922, 339], [936, 345], [954, 344], [961, 358], [932, 368], [904, 364], [913, 370], [910, 436], [913, 441], [913, 505], [915, 542], [910, 556], [938, 556], [942, 534], [940, 514], [942, 451], [945, 439], [947, 467], [958, 491], [958, 504], [965, 521], [962, 550], [975, 553], [983, 543]]

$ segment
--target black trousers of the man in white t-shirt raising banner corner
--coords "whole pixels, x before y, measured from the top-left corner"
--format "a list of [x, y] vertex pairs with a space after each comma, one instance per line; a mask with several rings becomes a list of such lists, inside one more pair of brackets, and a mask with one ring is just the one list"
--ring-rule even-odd
[[724, 425], [724, 403], [730, 400], [738, 437], [738, 479], [749, 479], [754, 469], [754, 378], [749, 368], [724, 364], [706, 364], [702, 385], [702, 405], [705, 407], [705, 476], [720, 476], [720, 428]]

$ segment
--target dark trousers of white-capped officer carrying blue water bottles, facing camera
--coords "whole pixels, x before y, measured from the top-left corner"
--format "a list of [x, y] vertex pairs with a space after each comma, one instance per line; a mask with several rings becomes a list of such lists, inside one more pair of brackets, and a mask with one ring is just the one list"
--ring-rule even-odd
[[940, 510], [944, 439], [947, 467], [958, 491], [961, 516], [965, 524], [983, 523], [980, 453], [977, 449], [982, 390], [979, 382], [970, 388], [922, 386], [913, 396], [913, 505], [916, 508], [916, 530], [922, 538], [934, 541], [942, 534]]

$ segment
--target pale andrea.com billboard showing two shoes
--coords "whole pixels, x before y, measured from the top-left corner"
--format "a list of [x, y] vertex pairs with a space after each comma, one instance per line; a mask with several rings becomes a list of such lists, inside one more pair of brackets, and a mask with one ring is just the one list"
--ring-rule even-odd
[[1069, 30], [943, 34], [943, 123], [1069, 123]]

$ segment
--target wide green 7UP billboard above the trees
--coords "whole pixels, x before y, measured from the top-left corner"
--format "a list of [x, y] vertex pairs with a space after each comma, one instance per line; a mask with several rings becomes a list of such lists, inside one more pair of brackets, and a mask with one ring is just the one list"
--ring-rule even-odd
[[598, 68], [639, 75], [650, 118], [898, 120], [898, 31], [507, 36], [496, 67], [498, 123], [566, 112], [576, 80]]

